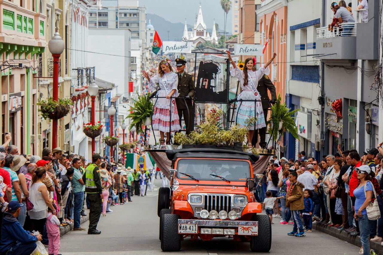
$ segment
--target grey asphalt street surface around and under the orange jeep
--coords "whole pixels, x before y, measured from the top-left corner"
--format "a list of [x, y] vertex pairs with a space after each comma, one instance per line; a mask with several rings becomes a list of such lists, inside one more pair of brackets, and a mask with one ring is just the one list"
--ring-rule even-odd
[[[157, 216], [157, 193], [162, 185], [156, 179], [153, 192], [147, 196], [133, 196], [133, 202], [111, 206], [113, 213], [100, 217], [100, 235], [88, 235], [87, 231], [71, 231], [61, 239], [60, 253], [63, 255], [156, 255], [163, 254], [158, 239], [159, 217]], [[358, 254], [359, 248], [331, 235], [313, 231], [305, 237], [288, 236], [292, 225], [279, 224], [273, 218], [272, 248], [269, 253], [258, 254], [311, 254], [311, 255], [351, 255]], [[88, 227], [85, 222], [82, 227]], [[250, 252], [249, 242], [234, 242], [219, 238], [209, 242], [184, 240], [181, 251], [173, 254], [221, 255], [244, 254]]]

